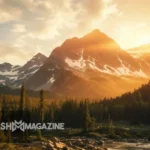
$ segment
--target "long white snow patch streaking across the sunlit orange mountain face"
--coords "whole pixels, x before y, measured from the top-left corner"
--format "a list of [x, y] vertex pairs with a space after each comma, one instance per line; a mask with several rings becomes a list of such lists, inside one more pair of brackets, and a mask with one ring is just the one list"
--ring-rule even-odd
[[120, 66], [117, 68], [114, 68], [114, 67], [107, 65], [107, 64], [102, 66], [102, 68], [99, 68], [95, 63], [94, 58], [90, 59], [90, 57], [89, 57], [88, 60], [83, 59], [83, 50], [81, 51], [80, 58], [78, 60], [72, 60], [68, 57], [65, 58], [65, 62], [68, 64], [69, 67], [72, 67], [74, 69], [78, 69], [80, 71], [85, 71], [86, 65], [88, 64], [91, 69], [102, 72], [102, 73], [110, 74], [110, 75], [138, 76], [138, 77], [148, 78], [148, 76], [142, 71], [142, 69], [140, 69], [139, 71], [136, 71], [136, 70], [132, 71], [130, 69], [130, 64], [125, 63], [119, 57], [118, 57], [118, 60], [120, 62]]

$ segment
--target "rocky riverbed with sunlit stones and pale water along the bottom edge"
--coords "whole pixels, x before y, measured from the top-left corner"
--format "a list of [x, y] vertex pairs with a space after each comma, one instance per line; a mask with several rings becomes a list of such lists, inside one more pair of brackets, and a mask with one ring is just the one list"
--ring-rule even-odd
[[54, 138], [48, 143], [43, 143], [43, 148], [49, 150], [150, 150], [150, 143], [147, 139], [122, 139], [113, 141], [109, 139], [72, 137]]

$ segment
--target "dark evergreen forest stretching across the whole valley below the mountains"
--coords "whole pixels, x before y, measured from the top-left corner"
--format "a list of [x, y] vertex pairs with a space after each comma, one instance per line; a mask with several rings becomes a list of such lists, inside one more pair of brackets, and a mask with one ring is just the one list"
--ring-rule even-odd
[[[63, 122], [65, 128], [82, 128], [88, 132], [103, 122], [126, 121], [130, 124], [150, 124], [150, 83], [142, 85], [134, 92], [123, 94], [120, 97], [90, 101], [88, 99], [49, 100], [44, 90], [39, 98], [29, 97], [24, 84], [20, 96], [0, 95], [0, 122], [23, 120], [29, 123]], [[11, 132], [7, 135], [11, 141]], [[18, 134], [22, 139], [28, 139], [29, 131]], [[41, 131], [38, 131], [41, 137]], [[1, 137], [1, 136], [0, 136]], [[4, 138], [2, 138], [4, 139]], [[0, 138], [0, 141], [2, 140]]]

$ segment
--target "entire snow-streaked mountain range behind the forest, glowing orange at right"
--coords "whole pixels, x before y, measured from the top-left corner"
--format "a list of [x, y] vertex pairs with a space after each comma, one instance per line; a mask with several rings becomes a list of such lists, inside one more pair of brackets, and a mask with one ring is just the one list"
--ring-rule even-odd
[[28, 89], [46, 89], [55, 98], [114, 97], [149, 80], [147, 57], [133, 57], [94, 30], [66, 40], [48, 58], [37, 54], [22, 67], [1, 64], [0, 83], [17, 88], [24, 81]]

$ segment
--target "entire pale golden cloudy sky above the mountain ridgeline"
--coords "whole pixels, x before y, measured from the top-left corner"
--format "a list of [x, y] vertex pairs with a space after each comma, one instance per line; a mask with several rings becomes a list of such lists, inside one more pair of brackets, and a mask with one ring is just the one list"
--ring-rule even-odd
[[49, 56], [66, 39], [94, 29], [121, 48], [150, 42], [150, 0], [0, 0], [0, 63]]

